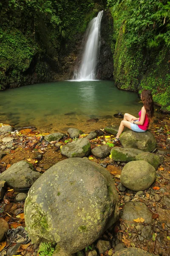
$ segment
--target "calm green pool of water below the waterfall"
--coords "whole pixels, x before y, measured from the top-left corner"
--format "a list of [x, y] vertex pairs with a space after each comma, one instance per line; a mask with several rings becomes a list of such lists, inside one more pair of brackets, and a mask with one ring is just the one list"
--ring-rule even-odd
[[119, 90], [113, 81], [33, 84], [0, 92], [0, 122], [57, 131], [85, 127], [88, 119], [99, 118], [101, 126], [102, 122], [120, 122], [108, 117], [118, 112], [138, 116], [139, 101], [137, 93]]

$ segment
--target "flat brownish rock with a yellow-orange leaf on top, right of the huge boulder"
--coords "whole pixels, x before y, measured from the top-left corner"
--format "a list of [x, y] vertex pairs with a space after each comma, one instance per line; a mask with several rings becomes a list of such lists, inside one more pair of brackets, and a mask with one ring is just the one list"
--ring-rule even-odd
[[133, 219], [144, 218], [144, 223], [152, 222], [152, 214], [148, 210], [146, 204], [142, 202], [129, 202], [125, 204], [120, 214], [123, 221], [133, 221]]

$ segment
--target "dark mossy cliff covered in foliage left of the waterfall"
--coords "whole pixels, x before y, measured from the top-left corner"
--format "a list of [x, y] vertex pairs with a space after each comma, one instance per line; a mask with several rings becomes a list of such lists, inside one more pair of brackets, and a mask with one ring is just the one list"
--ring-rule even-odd
[[88, 22], [101, 2], [3, 0], [0, 3], [0, 89], [73, 75]]

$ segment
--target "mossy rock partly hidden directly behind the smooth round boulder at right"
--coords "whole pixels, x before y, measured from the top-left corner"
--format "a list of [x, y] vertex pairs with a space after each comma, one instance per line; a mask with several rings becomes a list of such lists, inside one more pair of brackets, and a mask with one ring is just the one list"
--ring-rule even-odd
[[156, 170], [160, 165], [160, 157], [156, 154], [150, 152], [143, 152], [141, 154], [136, 155], [136, 160], [145, 160], [150, 163]]

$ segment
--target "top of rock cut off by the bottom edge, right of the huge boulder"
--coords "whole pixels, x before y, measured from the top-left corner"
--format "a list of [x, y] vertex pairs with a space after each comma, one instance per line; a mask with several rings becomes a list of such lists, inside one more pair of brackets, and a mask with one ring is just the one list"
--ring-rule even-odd
[[114, 254], [114, 256], [155, 256], [155, 254], [153, 255], [152, 253], [148, 253], [139, 248], [129, 247], [119, 250]]

